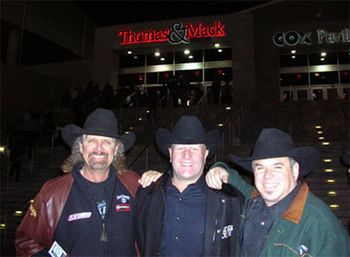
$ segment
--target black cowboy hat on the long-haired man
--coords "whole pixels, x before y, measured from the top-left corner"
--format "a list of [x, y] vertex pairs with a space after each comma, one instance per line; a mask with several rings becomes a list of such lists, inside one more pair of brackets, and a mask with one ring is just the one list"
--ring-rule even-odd
[[96, 135], [119, 139], [125, 151], [129, 150], [136, 142], [134, 132], [123, 135], [118, 134], [118, 121], [114, 113], [109, 109], [98, 108], [86, 118], [84, 127], [68, 124], [61, 130], [63, 140], [72, 147], [74, 140], [81, 135]]

